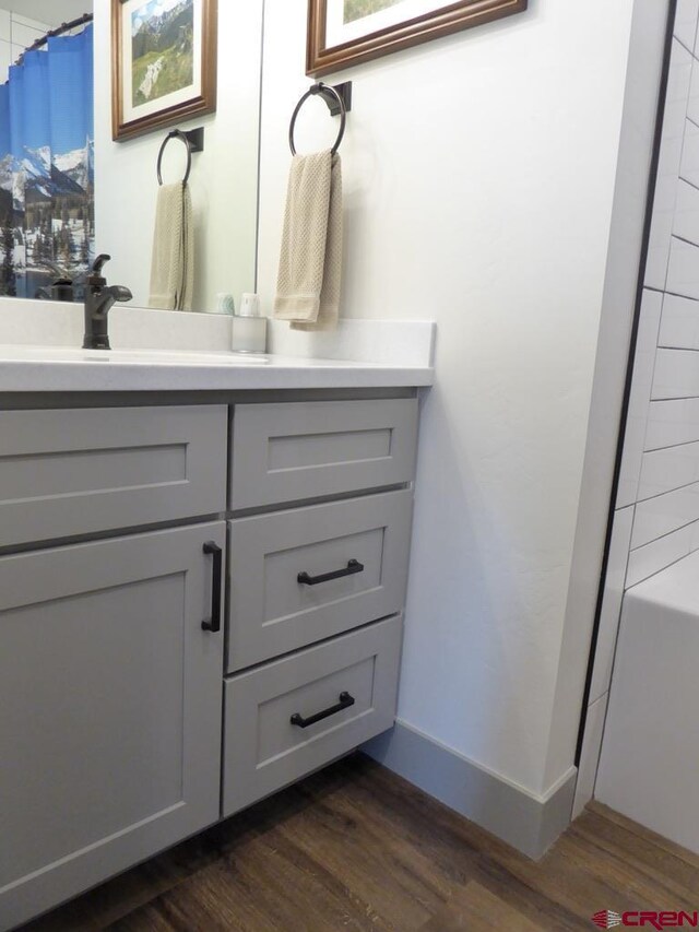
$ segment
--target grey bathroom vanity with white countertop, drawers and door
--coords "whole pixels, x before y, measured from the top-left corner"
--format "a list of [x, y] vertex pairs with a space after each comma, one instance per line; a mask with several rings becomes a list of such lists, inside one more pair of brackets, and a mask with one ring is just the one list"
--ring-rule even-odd
[[430, 381], [0, 363], [0, 929], [391, 727]]

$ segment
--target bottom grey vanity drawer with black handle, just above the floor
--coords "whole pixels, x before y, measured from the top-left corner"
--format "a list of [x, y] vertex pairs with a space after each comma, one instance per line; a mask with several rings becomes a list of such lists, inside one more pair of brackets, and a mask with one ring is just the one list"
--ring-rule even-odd
[[401, 635], [395, 616], [226, 681], [224, 817], [391, 728]]

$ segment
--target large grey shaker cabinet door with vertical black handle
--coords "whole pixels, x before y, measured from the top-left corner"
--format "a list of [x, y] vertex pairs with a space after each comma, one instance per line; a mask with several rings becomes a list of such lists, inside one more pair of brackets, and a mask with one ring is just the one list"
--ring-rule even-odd
[[0, 929], [215, 822], [223, 522], [0, 559]]

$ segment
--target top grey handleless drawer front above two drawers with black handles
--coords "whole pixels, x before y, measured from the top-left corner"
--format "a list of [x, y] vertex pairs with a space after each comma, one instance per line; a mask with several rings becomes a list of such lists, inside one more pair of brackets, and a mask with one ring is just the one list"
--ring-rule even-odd
[[230, 507], [412, 482], [417, 399], [238, 404]]

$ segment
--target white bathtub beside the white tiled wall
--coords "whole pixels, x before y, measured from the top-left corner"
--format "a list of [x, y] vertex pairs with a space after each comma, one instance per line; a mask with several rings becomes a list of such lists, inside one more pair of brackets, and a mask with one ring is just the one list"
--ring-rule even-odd
[[595, 798], [699, 853], [699, 552], [624, 597]]

